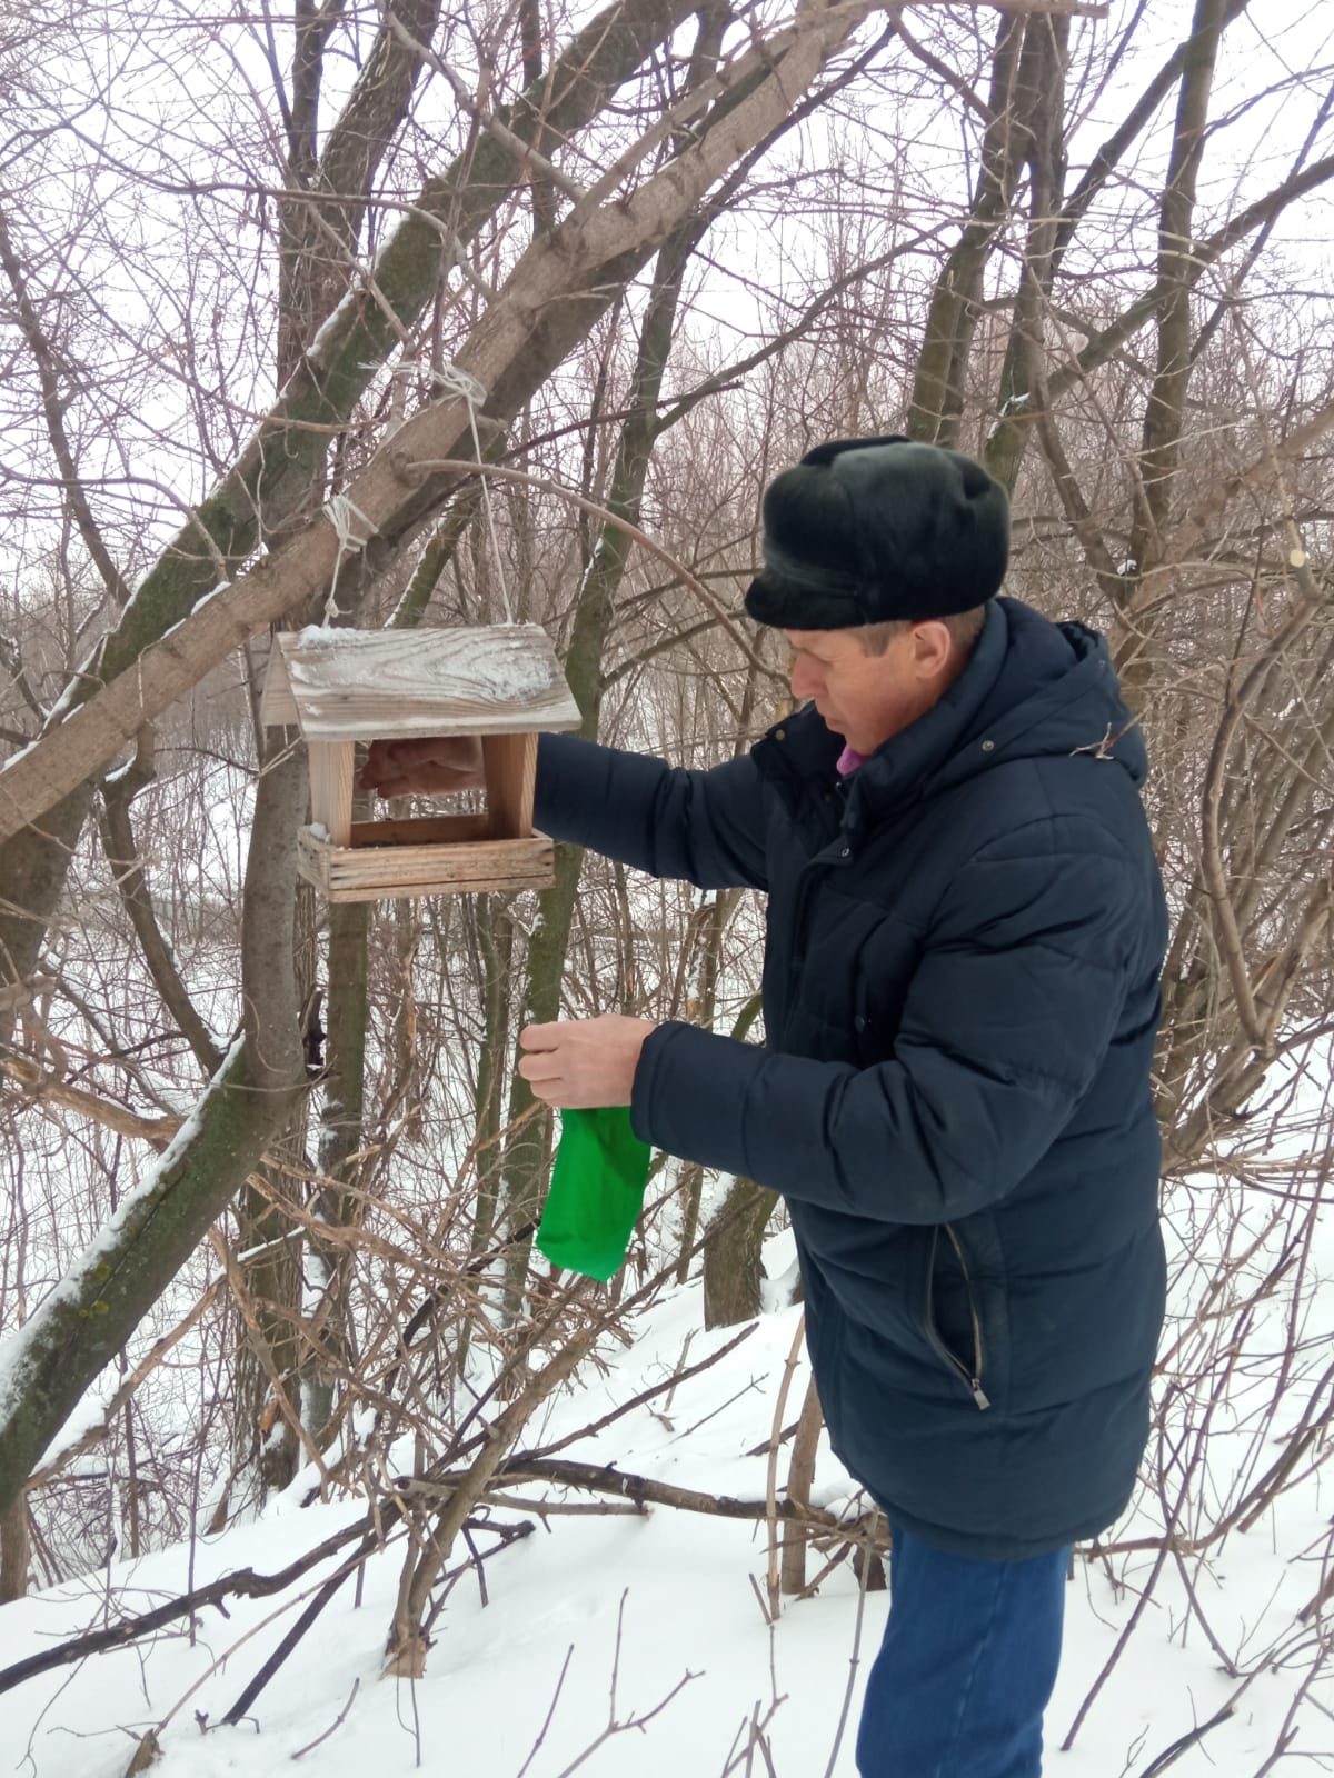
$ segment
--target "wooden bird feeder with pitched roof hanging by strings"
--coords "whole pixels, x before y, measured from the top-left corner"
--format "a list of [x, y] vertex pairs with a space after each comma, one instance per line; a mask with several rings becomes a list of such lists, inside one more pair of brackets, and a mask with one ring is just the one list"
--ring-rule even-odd
[[[331, 901], [541, 889], [553, 848], [532, 827], [539, 729], [580, 713], [544, 629], [299, 629], [274, 637], [265, 725], [295, 725], [309, 750], [311, 825], [297, 868]], [[482, 740], [486, 811], [354, 821], [358, 741]]]

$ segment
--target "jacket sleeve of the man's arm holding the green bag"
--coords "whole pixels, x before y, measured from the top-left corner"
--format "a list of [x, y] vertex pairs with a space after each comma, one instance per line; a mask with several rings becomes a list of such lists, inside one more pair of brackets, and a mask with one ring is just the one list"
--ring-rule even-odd
[[1142, 873], [1094, 821], [1062, 823], [1060, 837], [1039, 823], [957, 873], [891, 1061], [813, 1061], [663, 1024], [635, 1074], [635, 1131], [799, 1202], [895, 1223], [1003, 1198], [1089, 1090], [1147, 967]]

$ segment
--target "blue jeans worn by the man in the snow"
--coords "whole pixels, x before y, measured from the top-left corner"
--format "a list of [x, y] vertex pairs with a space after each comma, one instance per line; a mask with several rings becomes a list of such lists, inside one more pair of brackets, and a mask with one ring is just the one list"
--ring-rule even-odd
[[1039, 1778], [1069, 1549], [946, 1556], [891, 1527], [889, 1623], [866, 1680], [861, 1778]]

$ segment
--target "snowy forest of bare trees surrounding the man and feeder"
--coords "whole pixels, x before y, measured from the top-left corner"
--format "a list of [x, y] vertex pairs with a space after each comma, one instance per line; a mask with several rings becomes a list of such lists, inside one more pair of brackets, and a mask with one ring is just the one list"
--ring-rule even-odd
[[761, 1040], [763, 905], [329, 905], [260, 695], [532, 622], [585, 736], [724, 761], [761, 491], [877, 432], [1110, 638], [1172, 912], [1046, 1769], [1334, 1771], [1330, 9], [4, 0], [0, 100], [0, 1771], [854, 1773], [884, 1522], [783, 1204], [656, 1154], [608, 1285], [534, 1246], [519, 1028]]

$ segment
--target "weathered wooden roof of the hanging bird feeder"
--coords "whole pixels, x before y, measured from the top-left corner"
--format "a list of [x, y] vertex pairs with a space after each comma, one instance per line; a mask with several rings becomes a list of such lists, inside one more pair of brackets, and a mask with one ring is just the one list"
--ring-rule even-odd
[[295, 724], [306, 741], [525, 734], [582, 720], [539, 624], [279, 631], [261, 715]]

